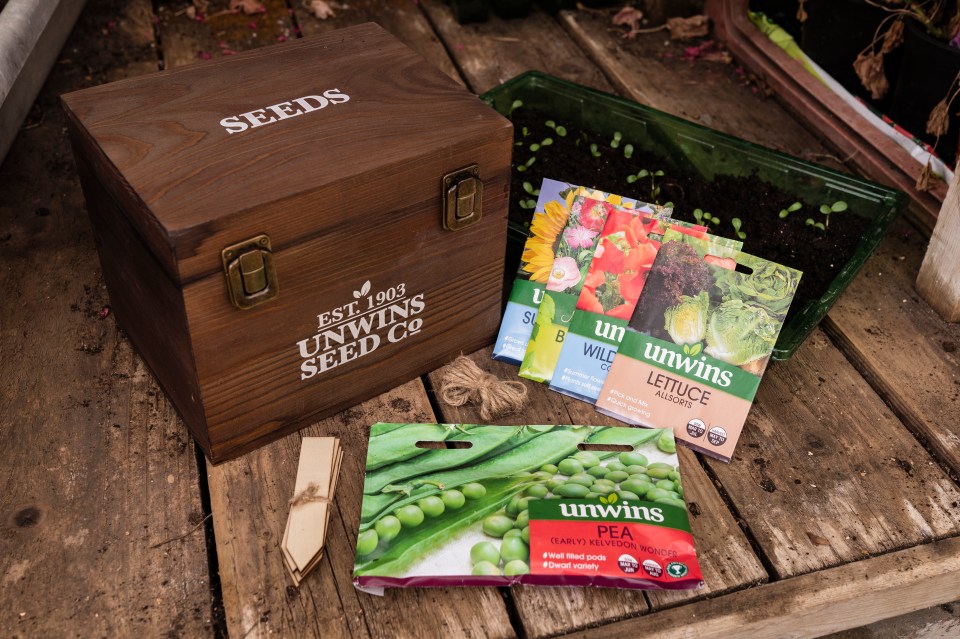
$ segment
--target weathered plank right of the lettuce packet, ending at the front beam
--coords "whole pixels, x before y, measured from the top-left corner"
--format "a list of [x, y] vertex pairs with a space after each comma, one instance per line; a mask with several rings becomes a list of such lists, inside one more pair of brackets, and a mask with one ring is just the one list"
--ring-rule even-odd
[[781, 579], [960, 533], [960, 490], [819, 329], [709, 466]]

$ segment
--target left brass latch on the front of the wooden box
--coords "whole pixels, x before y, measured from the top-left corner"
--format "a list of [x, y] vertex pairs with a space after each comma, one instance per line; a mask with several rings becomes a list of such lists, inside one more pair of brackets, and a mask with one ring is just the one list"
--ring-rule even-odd
[[227, 275], [227, 293], [237, 308], [262, 304], [280, 292], [266, 235], [228, 246], [220, 253], [220, 260]]

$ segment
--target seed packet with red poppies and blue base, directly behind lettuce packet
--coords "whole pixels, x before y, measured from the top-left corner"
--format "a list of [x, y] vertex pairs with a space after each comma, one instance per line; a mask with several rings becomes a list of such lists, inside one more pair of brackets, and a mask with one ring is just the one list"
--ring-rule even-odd
[[660, 243], [684, 234], [707, 241], [702, 258], [728, 268], [736, 266], [730, 258], [743, 245], [738, 240], [709, 235], [706, 227], [686, 222], [630, 211], [610, 214], [564, 337], [550, 390], [591, 404], [597, 401]]

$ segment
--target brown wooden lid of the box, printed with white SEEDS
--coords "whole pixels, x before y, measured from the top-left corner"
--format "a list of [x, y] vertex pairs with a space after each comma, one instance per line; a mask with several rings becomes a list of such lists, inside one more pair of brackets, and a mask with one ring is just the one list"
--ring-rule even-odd
[[386, 214], [402, 193], [351, 211], [352, 194], [511, 126], [373, 23], [62, 100], [79, 154], [181, 284], [244, 236], [269, 229], [277, 251], [346, 214]]

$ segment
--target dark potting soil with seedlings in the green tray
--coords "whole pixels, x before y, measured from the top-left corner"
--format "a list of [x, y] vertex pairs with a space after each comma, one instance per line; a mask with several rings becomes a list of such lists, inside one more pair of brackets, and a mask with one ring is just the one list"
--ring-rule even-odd
[[[672, 202], [673, 217], [687, 222], [696, 222], [693, 212], [699, 208], [720, 219], [719, 225], [710, 224], [708, 230], [723, 237], [735, 237], [730, 220], [740, 218], [743, 222], [741, 231], [747, 235], [743, 239], [744, 252], [803, 272], [796, 297], [787, 314], [788, 320], [807, 301], [818, 300], [824, 294], [855, 252], [860, 236], [869, 225], [869, 220], [848, 210], [833, 213], [828, 228], [821, 231], [807, 225], [806, 220], [812, 218], [822, 222], [825, 216], [820, 213], [820, 205], [832, 202], [798, 200], [755, 175], [720, 175], [713, 181], [705, 181], [694, 171], [675, 166], [668, 158], [638, 149], [627, 159], [623, 148], [629, 140], [621, 140], [619, 147], [614, 149], [610, 147], [609, 136], [580, 131], [569, 123], [556, 121], [557, 125], [567, 129], [567, 135], [561, 137], [544, 124], [550, 120], [550, 116], [532, 109], [517, 109], [511, 119], [514, 123], [514, 142], [521, 143], [514, 146], [511, 220], [525, 227], [529, 225], [533, 209], [522, 208], [520, 203], [535, 202], [536, 197], [525, 191], [524, 183], [537, 189], [543, 178], [590, 186], [644, 202]], [[529, 150], [531, 143], [545, 138], [550, 138], [553, 143], [535, 153]], [[593, 152], [591, 144], [596, 144]], [[536, 157], [536, 161], [523, 171], [518, 171], [518, 167], [530, 157]], [[627, 182], [627, 176], [641, 169], [664, 172], [662, 177], [654, 180], [653, 188], [660, 189], [658, 194], [652, 193], [649, 177]], [[802, 208], [781, 219], [780, 211], [798, 201]]]

